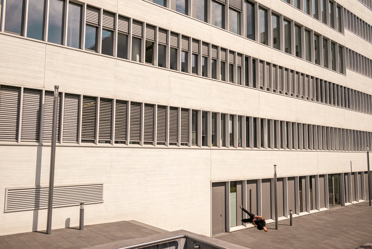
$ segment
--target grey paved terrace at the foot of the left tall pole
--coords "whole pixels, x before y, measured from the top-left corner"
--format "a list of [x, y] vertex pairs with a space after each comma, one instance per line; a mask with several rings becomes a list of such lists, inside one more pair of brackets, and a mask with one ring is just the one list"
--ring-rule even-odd
[[[146, 227], [144, 227], [146, 226]], [[119, 221], [84, 226], [84, 230], [61, 228], [45, 231], [0, 236], [1, 249], [62, 249], [87, 248], [106, 243], [146, 237], [166, 232], [137, 221]]]

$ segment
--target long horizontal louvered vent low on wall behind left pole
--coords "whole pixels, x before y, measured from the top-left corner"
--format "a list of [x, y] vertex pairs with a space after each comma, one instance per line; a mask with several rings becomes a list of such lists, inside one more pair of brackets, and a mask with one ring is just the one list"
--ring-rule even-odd
[[[4, 212], [48, 208], [48, 187], [12, 187], [5, 189]], [[103, 183], [54, 186], [53, 208], [103, 202]]]

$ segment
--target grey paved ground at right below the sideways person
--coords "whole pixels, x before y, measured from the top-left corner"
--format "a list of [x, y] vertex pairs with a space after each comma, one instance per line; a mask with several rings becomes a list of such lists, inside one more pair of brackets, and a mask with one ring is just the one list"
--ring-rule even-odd
[[279, 221], [278, 230], [275, 223], [267, 227], [267, 233], [248, 228], [217, 239], [251, 249], [357, 248], [372, 243], [372, 207], [364, 202], [296, 217], [292, 227], [289, 220]]

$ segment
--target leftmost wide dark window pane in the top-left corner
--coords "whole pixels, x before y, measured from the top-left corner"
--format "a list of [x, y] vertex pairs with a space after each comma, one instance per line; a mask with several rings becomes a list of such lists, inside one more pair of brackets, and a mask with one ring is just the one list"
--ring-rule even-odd
[[21, 34], [22, 23], [23, 0], [7, 0], [5, 13], [5, 31]]

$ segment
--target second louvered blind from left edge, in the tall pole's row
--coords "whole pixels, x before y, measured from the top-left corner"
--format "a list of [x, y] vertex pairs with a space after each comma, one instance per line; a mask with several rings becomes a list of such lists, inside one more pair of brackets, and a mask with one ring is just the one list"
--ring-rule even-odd
[[39, 141], [41, 91], [23, 89], [21, 141]]

